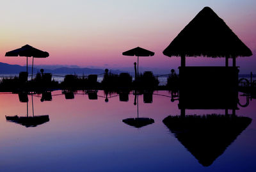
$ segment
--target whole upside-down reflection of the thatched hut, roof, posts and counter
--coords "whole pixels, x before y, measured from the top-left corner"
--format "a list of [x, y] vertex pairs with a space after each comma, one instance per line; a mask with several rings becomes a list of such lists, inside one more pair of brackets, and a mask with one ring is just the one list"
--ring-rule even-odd
[[[198, 96], [204, 97], [204, 100], [195, 97], [192, 102], [191, 97], [181, 95], [180, 115], [168, 116], [164, 118], [163, 123], [200, 164], [211, 166], [214, 160], [220, 157], [237, 136], [250, 125], [252, 119], [236, 115], [238, 109], [236, 92], [231, 97], [227, 95], [219, 97], [228, 99], [228, 102], [223, 99], [218, 100], [218, 97], [209, 97], [209, 100], [205, 95]], [[225, 114], [186, 115], [185, 109], [224, 109]], [[232, 114], [228, 114], [228, 109], [232, 109]]]

